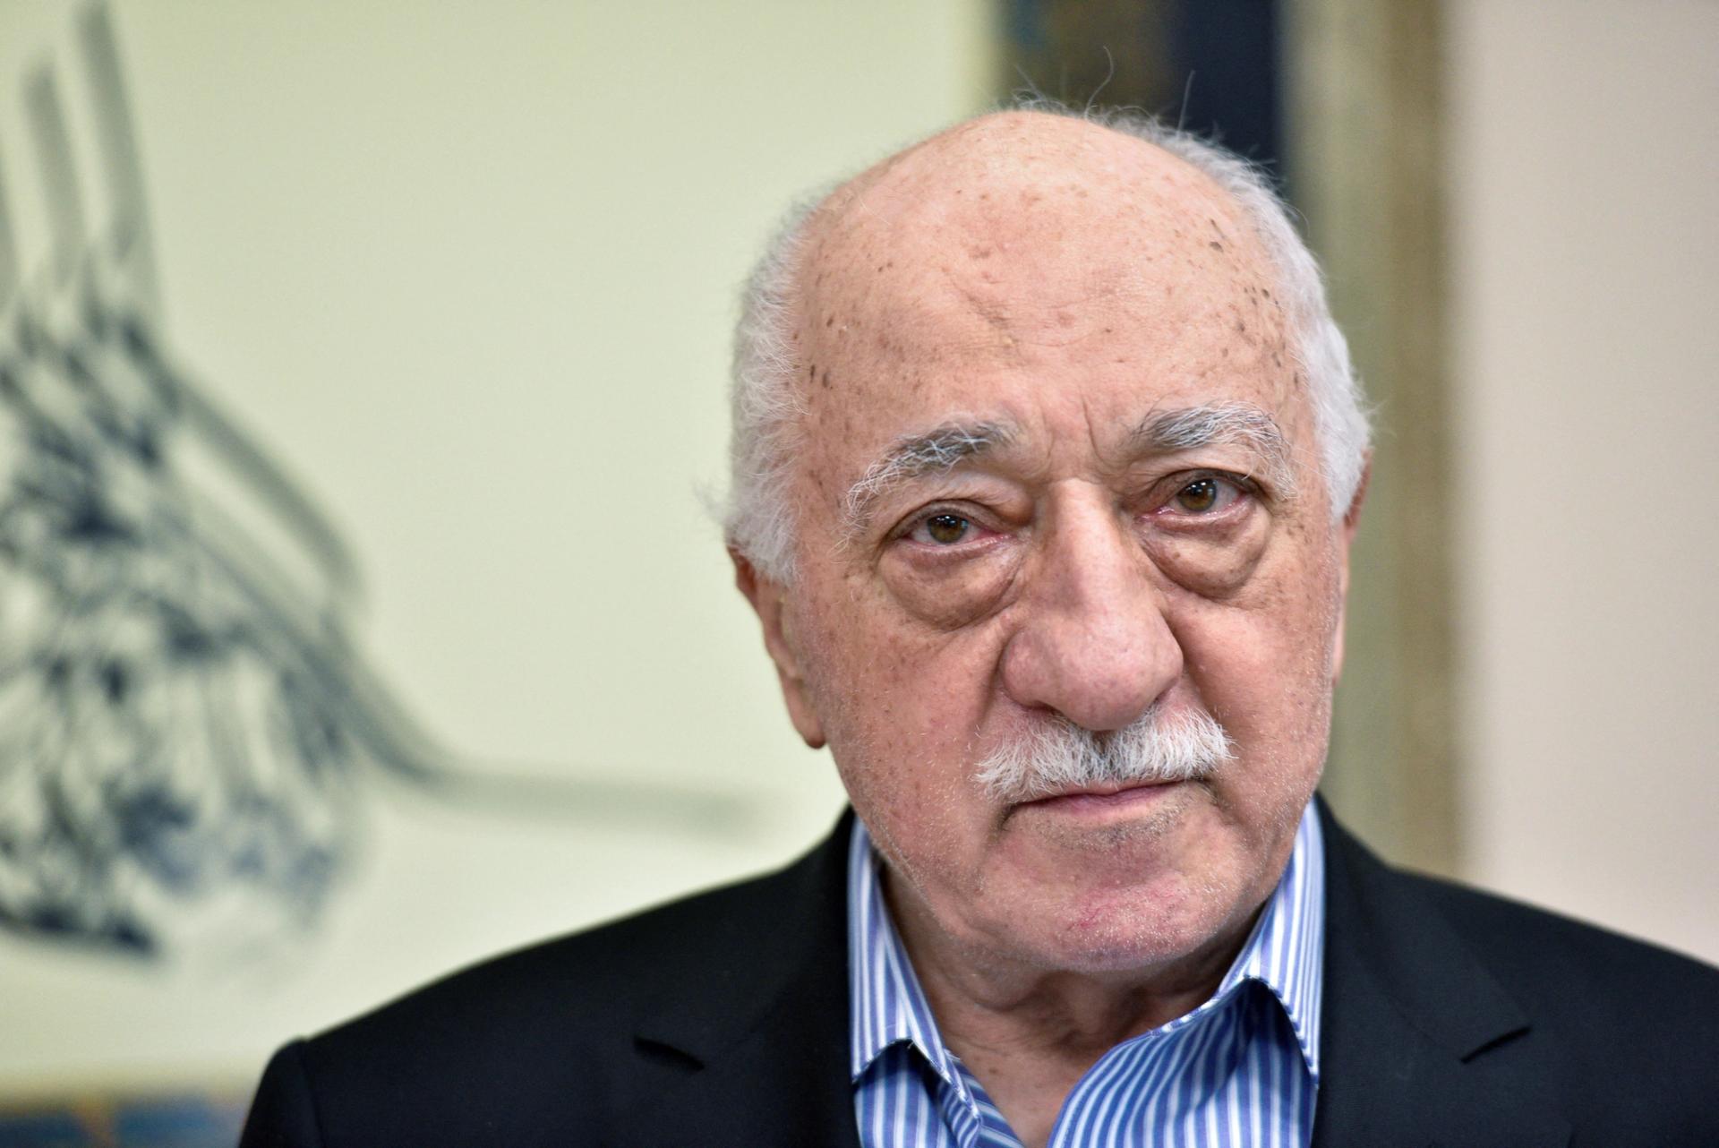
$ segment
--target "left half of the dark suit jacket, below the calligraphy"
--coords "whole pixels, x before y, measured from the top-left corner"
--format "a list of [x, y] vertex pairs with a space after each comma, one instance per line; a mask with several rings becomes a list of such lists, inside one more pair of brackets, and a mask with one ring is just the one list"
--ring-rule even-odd
[[485, 961], [282, 1048], [242, 1148], [841, 1143], [847, 818], [796, 864]]

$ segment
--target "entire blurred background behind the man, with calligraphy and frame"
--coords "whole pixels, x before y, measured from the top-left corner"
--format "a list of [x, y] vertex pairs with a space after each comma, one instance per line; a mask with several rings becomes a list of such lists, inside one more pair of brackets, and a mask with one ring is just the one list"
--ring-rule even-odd
[[1217, 132], [1329, 270], [1339, 813], [1719, 961], [1716, 58], [1710, 0], [0, 0], [0, 1146], [230, 1143], [284, 1040], [827, 830], [701, 505], [737, 284], [1023, 88]]

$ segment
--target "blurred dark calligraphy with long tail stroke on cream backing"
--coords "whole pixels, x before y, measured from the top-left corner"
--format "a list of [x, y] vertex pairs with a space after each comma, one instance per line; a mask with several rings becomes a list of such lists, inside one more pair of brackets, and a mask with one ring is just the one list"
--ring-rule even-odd
[[459, 760], [366, 670], [349, 550], [172, 349], [105, 7], [79, 14], [77, 45], [95, 187], [60, 77], [24, 77], [41, 266], [21, 265], [0, 187], [0, 926], [131, 954], [193, 921], [304, 930], [370, 779], [502, 815], [744, 832], [732, 794]]

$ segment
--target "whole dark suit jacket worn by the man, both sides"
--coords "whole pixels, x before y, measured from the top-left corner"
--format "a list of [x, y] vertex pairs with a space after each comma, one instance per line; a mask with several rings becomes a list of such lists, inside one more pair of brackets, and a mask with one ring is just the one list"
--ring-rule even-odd
[[[1320, 816], [1315, 1145], [1719, 1145], [1719, 971], [1394, 871]], [[858, 1148], [847, 823], [287, 1045], [242, 1148]]]

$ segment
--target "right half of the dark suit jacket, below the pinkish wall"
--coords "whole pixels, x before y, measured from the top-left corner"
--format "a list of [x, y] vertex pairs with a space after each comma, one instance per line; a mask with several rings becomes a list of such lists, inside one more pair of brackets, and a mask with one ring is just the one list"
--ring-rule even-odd
[[1719, 969], [1401, 873], [1322, 813], [1315, 1143], [1719, 1145]]

